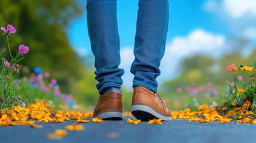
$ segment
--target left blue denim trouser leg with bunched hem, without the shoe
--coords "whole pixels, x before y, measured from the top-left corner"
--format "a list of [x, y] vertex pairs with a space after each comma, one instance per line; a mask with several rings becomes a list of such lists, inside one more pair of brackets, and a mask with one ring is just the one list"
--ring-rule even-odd
[[121, 88], [123, 69], [117, 29], [117, 0], [87, 0], [87, 24], [95, 55], [96, 87], [101, 94], [108, 87]]

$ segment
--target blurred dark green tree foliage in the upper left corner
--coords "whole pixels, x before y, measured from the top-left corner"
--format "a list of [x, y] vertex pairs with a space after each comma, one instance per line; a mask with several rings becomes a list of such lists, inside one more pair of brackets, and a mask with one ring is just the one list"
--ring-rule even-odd
[[[29, 69], [41, 67], [58, 80], [62, 91], [68, 92], [85, 67], [69, 43], [66, 29], [72, 19], [83, 12], [74, 0], [8, 0], [0, 4], [0, 26], [12, 24], [17, 29], [11, 35], [11, 50], [20, 44], [29, 46], [22, 64]], [[4, 38], [0, 48], [7, 48]], [[8, 57], [5, 52], [4, 57]], [[10, 59], [7, 58], [7, 59]]]

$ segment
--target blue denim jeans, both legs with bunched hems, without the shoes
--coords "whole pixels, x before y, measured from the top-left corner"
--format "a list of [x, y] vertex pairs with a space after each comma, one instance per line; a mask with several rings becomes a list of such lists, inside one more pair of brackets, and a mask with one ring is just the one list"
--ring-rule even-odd
[[[134, 74], [133, 87], [144, 86], [157, 92], [156, 78], [160, 75], [160, 61], [165, 50], [168, 14], [168, 0], [139, 0], [135, 60], [130, 69]], [[87, 0], [87, 24], [99, 93], [109, 86], [121, 88], [124, 70], [118, 68], [117, 0]]]

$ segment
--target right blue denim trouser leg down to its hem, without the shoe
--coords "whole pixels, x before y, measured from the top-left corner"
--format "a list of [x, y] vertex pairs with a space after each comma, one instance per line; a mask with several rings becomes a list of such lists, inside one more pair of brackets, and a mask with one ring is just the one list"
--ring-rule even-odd
[[159, 66], [164, 55], [168, 18], [168, 0], [139, 0], [135, 60], [130, 70], [135, 75], [133, 87], [144, 86], [157, 91], [156, 78], [160, 75]]

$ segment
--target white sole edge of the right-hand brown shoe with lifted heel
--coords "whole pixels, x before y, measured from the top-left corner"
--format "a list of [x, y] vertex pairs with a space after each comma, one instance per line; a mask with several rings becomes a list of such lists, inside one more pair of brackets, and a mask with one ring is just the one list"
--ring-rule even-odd
[[[147, 105], [132, 105], [132, 113], [137, 112], [137, 114], [139, 113], [146, 113], [146, 114], [151, 114], [152, 116], [155, 116], [157, 118], [161, 118], [165, 121], [171, 121], [172, 120], [172, 116], [164, 116], [163, 114], [158, 113], [157, 111], [155, 111], [153, 108], [148, 107]], [[133, 114], [135, 115], [135, 114]], [[136, 117], [136, 115], [135, 115]], [[136, 117], [137, 119], [140, 117]]]

